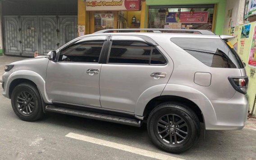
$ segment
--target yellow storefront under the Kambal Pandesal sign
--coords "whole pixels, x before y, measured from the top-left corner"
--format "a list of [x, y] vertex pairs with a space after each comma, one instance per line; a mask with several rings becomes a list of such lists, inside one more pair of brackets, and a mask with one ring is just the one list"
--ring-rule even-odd
[[140, 6], [140, 0], [78, 0], [78, 35], [140, 28]]

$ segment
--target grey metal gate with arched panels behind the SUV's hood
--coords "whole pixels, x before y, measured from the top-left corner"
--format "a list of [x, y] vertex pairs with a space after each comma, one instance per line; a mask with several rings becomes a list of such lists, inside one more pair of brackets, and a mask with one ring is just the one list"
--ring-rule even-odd
[[77, 37], [77, 16], [4, 16], [6, 55], [34, 56]]

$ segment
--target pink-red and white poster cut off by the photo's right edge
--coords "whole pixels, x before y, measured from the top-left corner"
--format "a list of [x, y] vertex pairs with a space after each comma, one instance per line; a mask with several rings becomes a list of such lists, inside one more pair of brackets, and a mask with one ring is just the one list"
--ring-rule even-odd
[[254, 30], [253, 30], [248, 66], [256, 68], [256, 26], [254, 26]]

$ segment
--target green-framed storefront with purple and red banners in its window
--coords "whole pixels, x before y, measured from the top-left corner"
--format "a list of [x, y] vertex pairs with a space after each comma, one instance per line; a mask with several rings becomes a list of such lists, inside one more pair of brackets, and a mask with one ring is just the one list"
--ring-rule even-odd
[[226, 0], [146, 0], [141, 28], [202, 29], [222, 34]]

